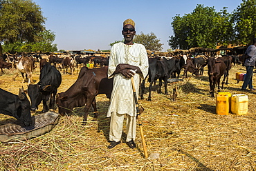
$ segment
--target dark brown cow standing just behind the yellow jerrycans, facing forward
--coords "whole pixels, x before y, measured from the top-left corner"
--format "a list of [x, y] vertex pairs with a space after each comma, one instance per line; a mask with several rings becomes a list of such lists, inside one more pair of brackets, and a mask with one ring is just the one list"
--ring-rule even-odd
[[[208, 76], [210, 82], [210, 94], [211, 97], [214, 97], [214, 88], [216, 83], [218, 84], [218, 92], [220, 92], [219, 83], [221, 76], [224, 74], [226, 70], [226, 64], [219, 59], [215, 59], [214, 57], [210, 57], [207, 60], [208, 65]], [[224, 82], [224, 80], [223, 80]], [[223, 87], [222, 82], [222, 87]]]

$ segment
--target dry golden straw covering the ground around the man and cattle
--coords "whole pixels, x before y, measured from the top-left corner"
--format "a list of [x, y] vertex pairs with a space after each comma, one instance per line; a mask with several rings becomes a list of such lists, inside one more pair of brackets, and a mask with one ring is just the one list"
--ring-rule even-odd
[[[130, 149], [125, 143], [107, 148], [109, 100], [98, 95], [98, 121], [91, 111], [88, 123], [82, 125], [83, 108], [75, 108], [47, 134], [20, 143], [1, 143], [0, 170], [256, 170], [255, 92], [241, 92], [242, 82], [235, 81], [235, 72], [246, 71], [242, 66], [232, 68], [230, 84], [223, 91], [248, 94], [246, 115], [215, 114], [215, 99], [208, 94], [207, 70], [203, 77], [189, 75], [183, 82], [170, 84], [169, 92], [178, 86], [176, 101], [170, 94], [155, 91], [152, 101], [139, 100], [145, 108], [141, 118], [148, 153], [160, 154], [159, 159], [144, 158], [139, 130], [138, 148]], [[18, 94], [18, 88], [26, 87], [21, 75], [12, 81], [15, 74], [5, 70], [0, 88]], [[33, 78], [38, 81], [38, 70]], [[65, 91], [76, 79], [77, 74], [62, 74], [58, 91]], [[39, 107], [42, 110], [42, 105]], [[15, 120], [3, 114], [0, 119], [0, 124]]]

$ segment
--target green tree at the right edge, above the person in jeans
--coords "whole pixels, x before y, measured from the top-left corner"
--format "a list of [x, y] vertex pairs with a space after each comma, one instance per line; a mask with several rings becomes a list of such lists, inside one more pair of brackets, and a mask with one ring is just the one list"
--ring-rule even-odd
[[243, 0], [233, 12], [235, 43], [250, 44], [256, 37], [256, 0]]

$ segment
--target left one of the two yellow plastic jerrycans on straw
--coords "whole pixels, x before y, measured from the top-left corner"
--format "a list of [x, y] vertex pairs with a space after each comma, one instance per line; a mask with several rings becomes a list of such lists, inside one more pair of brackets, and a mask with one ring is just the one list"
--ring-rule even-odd
[[229, 112], [229, 97], [228, 94], [216, 96], [216, 113], [221, 115], [228, 115]]

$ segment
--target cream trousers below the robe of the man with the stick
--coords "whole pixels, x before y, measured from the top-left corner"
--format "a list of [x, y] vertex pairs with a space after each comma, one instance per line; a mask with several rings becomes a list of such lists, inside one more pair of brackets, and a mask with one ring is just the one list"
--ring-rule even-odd
[[122, 137], [122, 127], [126, 115], [126, 141], [135, 140], [136, 137], [136, 117], [131, 117], [129, 114], [118, 114], [111, 112], [109, 141], [120, 141]]

